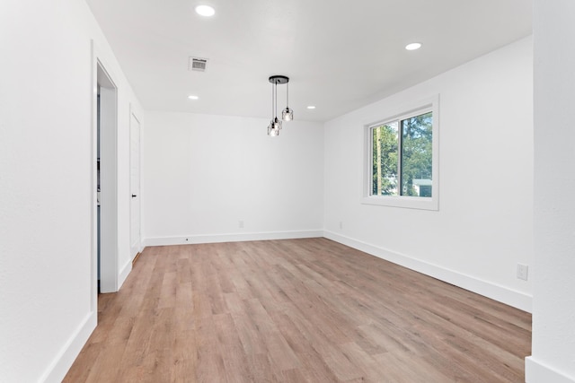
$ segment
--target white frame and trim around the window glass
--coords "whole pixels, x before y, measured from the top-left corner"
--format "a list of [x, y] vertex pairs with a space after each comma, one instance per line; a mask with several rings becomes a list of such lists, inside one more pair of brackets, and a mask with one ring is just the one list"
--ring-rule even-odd
[[[432, 140], [431, 140], [431, 196], [374, 196], [372, 195], [373, 182], [373, 147], [371, 129], [394, 121], [403, 120], [419, 116], [424, 113], [432, 113]], [[394, 109], [387, 116], [379, 121], [364, 126], [364, 170], [363, 170], [363, 196], [361, 203], [365, 205], [382, 205], [403, 207], [409, 209], [439, 210], [439, 95], [429, 99], [413, 102], [403, 106], [401, 109]]]

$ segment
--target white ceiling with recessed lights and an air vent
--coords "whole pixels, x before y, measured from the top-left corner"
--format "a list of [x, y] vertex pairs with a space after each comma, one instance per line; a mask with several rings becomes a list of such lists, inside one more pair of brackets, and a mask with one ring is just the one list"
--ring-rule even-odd
[[[325, 121], [531, 33], [529, 0], [86, 0], [145, 109]], [[210, 4], [216, 15], [194, 12]], [[419, 41], [423, 47], [407, 51]], [[204, 73], [188, 58], [208, 58]], [[285, 107], [285, 85], [279, 106]], [[199, 100], [188, 100], [195, 94]], [[314, 110], [306, 109], [315, 105]]]

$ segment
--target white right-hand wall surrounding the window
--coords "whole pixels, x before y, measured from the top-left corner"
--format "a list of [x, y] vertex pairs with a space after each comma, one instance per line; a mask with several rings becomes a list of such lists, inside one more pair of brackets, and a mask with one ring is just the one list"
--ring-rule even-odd
[[[530, 310], [532, 77], [527, 38], [326, 123], [326, 236]], [[364, 126], [436, 94], [438, 212], [362, 205]]]

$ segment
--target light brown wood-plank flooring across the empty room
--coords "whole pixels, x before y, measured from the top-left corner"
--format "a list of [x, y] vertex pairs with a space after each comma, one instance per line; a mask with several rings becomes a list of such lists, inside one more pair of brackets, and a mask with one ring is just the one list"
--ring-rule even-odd
[[98, 310], [65, 382], [524, 382], [531, 353], [528, 313], [329, 239], [146, 248]]

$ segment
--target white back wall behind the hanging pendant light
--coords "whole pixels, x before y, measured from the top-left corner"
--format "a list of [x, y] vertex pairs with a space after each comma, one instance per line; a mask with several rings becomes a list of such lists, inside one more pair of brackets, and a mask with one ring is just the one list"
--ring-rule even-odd
[[269, 137], [268, 124], [146, 112], [146, 245], [321, 236], [323, 126], [295, 120]]

